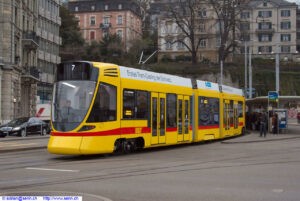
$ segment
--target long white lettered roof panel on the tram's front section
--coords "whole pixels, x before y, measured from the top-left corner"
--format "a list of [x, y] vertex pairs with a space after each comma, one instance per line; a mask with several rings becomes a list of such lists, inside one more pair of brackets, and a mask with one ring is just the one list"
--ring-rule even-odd
[[124, 66], [119, 66], [120, 69], [120, 77], [133, 79], [133, 80], [141, 80], [148, 82], [156, 82], [161, 84], [170, 84], [182, 87], [190, 87], [192, 88], [192, 81], [189, 78], [183, 78], [175, 75], [168, 75], [164, 73], [155, 73], [146, 70], [139, 70], [135, 68], [128, 68]]

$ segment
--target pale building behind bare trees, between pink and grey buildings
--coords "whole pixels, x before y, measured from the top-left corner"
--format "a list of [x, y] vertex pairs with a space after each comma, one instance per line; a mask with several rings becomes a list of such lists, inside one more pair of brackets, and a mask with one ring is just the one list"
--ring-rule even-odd
[[[163, 3], [156, 4], [161, 8], [163, 7]], [[160, 10], [159, 7], [156, 7], [156, 12]], [[196, 39], [201, 38], [197, 58], [199, 61], [217, 61], [219, 48], [218, 23], [213, 7], [203, 3], [199, 5], [199, 11], [196, 13], [197, 16], [193, 28], [194, 36]], [[185, 44], [191, 47], [190, 40], [183, 33], [183, 30], [178, 27], [174, 19], [165, 16], [162, 14], [157, 17], [158, 59], [161, 60], [165, 56], [176, 59], [176, 57], [181, 55], [191, 55], [188, 48], [181, 42], [184, 41]], [[152, 23], [156, 26], [156, 22], [152, 21]], [[190, 32], [191, 29], [185, 27], [184, 30]]]

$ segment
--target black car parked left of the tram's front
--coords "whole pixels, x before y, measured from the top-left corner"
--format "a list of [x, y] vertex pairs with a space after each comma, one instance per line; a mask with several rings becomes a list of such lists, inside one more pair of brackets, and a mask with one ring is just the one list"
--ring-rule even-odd
[[0, 136], [18, 135], [25, 137], [28, 134], [40, 133], [46, 135], [50, 128], [47, 123], [36, 117], [22, 117], [0, 126]]

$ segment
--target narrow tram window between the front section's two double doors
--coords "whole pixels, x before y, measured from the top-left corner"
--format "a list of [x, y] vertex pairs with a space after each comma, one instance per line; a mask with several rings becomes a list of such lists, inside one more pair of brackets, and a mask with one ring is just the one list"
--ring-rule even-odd
[[176, 94], [167, 94], [167, 128], [177, 128]]

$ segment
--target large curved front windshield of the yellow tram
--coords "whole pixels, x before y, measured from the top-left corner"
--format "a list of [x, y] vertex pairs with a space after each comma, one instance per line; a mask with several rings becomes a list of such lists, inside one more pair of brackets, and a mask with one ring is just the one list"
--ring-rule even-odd
[[97, 83], [86, 78], [77, 77], [74, 80], [72, 73], [74, 74], [75, 69], [72, 67], [73, 70], [69, 71], [68, 66], [65, 64], [58, 67], [58, 71], [59, 68], [64, 68], [63, 73], [68, 75], [57, 75], [54, 84], [51, 120], [57, 131], [71, 131], [80, 125], [88, 113]]

